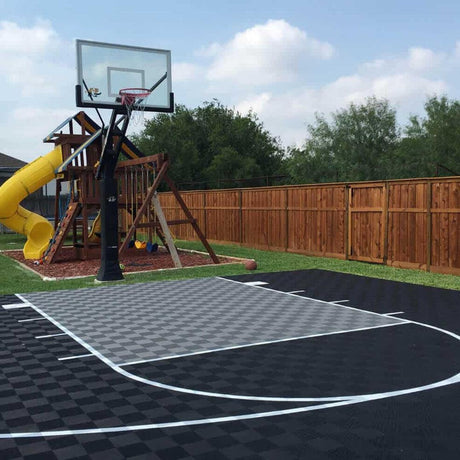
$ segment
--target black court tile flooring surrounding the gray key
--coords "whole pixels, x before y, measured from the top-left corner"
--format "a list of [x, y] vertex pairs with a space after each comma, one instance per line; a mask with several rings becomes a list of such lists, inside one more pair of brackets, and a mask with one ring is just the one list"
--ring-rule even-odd
[[[291, 272], [284, 280], [274, 274], [257, 273], [241, 280], [263, 280], [263, 276], [273, 289], [311, 289], [305, 295], [324, 300], [349, 299], [355, 307], [379, 313], [401, 310], [405, 318], [447, 330], [459, 327], [455, 291], [427, 293], [401, 283], [369, 284], [368, 279], [316, 270]], [[327, 294], [316, 295], [319, 286]], [[363, 293], [362, 289], [369, 292]], [[318, 404], [182, 394], [127, 379], [95, 357], [58, 361], [62, 354], [80, 353], [82, 348], [66, 336], [35, 339], [59, 330], [47, 321], [18, 323], [25, 310], [0, 309], [0, 340], [4, 345], [0, 349], [0, 433], [255, 415]], [[339, 389], [367, 392], [423, 384], [451, 375], [454, 367], [458, 372], [454, 338], [425, 329], [398, 325], [298, 343], [227, 350], [214, 356], [197, 355], [188, 358], [188, 364], [182, 358], [156, 363], [163, 367], [156, 368], [154, 377], [179, 386], [187, 383], [203, 389], [228, 389], [230, 393], [277, 394], [289, 390], [290, 395], [298, 395], [303, 385], [317, 395], [325, 391], [332, 395]], [[131, 367], [126, 369], [131, 371]], [[340, 377], [331, 377], [331, 370]], [[297, 383], [300, 380], [302, 385]], [[0, 439], [0, 458], [458, 458], [458, 384], [352, 403], [350, 400], [340, 407], [323, 406], [321, 410], [274, 417], [118, 434]]]

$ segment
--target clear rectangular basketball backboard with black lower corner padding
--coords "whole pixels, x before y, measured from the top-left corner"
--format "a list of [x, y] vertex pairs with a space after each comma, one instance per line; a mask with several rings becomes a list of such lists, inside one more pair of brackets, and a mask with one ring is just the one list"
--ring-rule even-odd
[[77, 40], [78, 107], [122, 107], [119, 91], [146, 88], [148, 112], [173, 112], [171, 51]]

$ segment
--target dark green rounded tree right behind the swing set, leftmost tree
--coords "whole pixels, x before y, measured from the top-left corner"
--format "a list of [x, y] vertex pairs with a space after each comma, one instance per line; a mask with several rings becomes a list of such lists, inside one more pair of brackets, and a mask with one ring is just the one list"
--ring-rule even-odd
[[159, 114], [133, 141], [146, 154], [169, 153], [171, 176], [189, 188], [229, 187], [229, 179], [271, 176], [283, 168], [280, 143], [257, 116], [243, 116], [215, 100]]

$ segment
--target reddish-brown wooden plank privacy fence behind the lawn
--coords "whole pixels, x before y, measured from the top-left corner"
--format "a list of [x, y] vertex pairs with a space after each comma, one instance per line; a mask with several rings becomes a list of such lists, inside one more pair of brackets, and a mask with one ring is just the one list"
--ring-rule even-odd
[[[182, 196], [210, 241], [460, 275], [460, 177]], [[171, 193], [160, 199], [168, 220], [184, 218]], [[173, 231], [196, 239], [190, 225]]]

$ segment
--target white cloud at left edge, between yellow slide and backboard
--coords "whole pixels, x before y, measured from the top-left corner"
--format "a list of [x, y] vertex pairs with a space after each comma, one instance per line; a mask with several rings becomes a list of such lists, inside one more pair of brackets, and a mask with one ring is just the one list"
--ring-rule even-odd
[[0, 21], [0, 151], [31, 161], [50, 149], [42, 139], [78, 110], [74, 61], [51, 23]]

